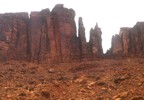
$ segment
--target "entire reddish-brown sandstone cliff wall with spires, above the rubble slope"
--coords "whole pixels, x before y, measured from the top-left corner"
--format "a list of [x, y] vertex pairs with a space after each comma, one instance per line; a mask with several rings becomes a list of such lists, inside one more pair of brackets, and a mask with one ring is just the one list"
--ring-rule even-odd
[[123, 27], [112, 37], [112, 46], [103, 54], [101, 29], [98, 24], [90, 30], [86, 42], [85, 27], [80, 17], [78, 36], [75, 11], [57, 4], [52, 11], [0, 14], [0, 60], [32, 62], [74, 62], [95, 60], [113, 55], [142, 54], [144, 51], [144, 22], [133, 28]]

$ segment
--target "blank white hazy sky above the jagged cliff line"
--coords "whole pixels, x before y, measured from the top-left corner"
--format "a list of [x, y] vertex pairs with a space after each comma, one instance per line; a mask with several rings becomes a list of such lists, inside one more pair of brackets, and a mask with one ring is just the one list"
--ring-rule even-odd
[[1, 0], [0, 13], [52, 9], [58, 3], [75, 10], [76, 23], [78, 17], [83, 18], [87, 39], [90, 28], [98, 22], [104, 51], [110, 47], [111, 37], [119, 33], [120, 27], [133, 27], [137, 21], [144, 21], [143, 0]]

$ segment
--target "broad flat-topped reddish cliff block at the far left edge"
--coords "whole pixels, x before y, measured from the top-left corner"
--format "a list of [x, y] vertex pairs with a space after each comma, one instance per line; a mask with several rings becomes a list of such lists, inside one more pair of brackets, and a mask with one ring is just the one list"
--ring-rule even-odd
[[26, 59], [30, 55], [28, 13], [0, 15], [1, 59]]

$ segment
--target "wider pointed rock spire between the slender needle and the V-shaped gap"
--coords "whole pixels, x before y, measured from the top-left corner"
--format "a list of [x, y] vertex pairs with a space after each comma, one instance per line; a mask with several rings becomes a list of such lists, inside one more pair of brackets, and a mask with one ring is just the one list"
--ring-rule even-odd
[[102, 49], [102, 38], [101, 38], [101, 29], [98, 27], [98, 24], [96, 24], [94, 29], [90, 30], [90, 46], [91, 46], [91, 52], [93, 55], [102, 55], [103, 49]]

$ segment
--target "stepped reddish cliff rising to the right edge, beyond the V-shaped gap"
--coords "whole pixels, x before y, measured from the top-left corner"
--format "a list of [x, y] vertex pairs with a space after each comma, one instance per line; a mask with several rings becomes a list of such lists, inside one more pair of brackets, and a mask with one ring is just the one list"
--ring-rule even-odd
[[144, 50], [144, 22], [133, 28], [121, 28], [119, 35], [112, 37], [112, 54], [142, 54]]

